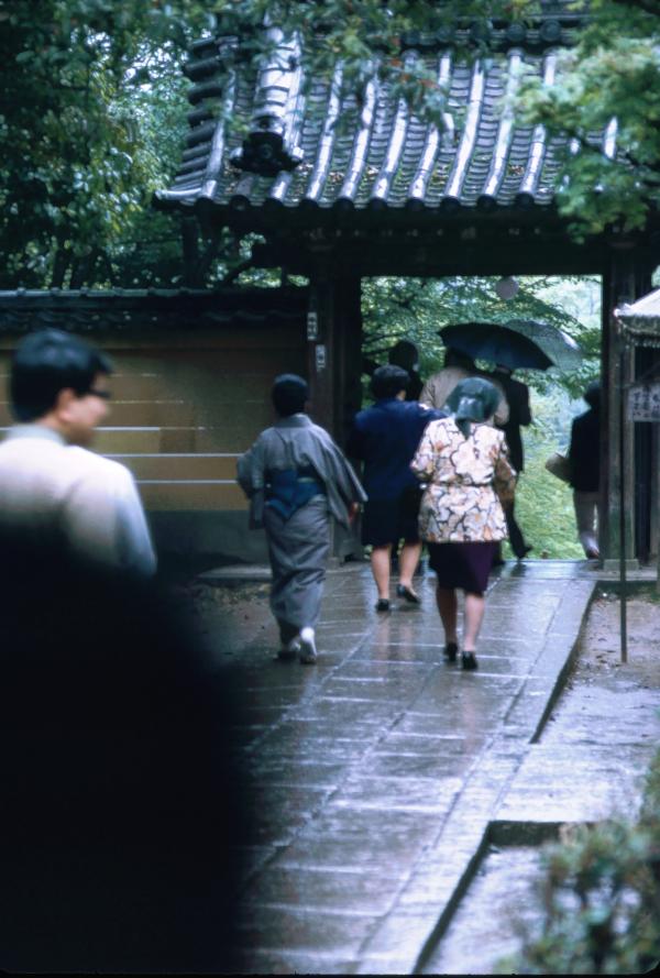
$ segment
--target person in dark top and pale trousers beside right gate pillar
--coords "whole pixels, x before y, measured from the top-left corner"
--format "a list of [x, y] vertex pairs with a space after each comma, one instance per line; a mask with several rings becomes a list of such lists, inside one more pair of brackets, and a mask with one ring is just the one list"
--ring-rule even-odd
[[593, 381], [583, 395], [588, 410], [573, 419], [569, 462], [570, 485], [578, 536], [587, 560], [601, 557], [598, 548], [598, 504], [601, 469], [601, 384]]

